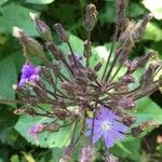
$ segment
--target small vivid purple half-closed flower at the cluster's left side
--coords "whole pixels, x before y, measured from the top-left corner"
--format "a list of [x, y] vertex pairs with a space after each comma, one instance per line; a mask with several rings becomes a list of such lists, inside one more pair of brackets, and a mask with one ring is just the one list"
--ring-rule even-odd
[[39, 81], [40, 67], [35, 67], [32, 64], [25, 64], [22, 69], [19, 86], [24, 86], [27, 82]]

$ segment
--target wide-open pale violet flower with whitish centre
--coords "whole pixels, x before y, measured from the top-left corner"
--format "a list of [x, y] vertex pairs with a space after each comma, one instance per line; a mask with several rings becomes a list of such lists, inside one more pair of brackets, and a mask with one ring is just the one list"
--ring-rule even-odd
[[[102, 107], [98, 110], [94, 119], [93, 144], [103, 137], [107, 148], [109, 148], [113, 146], [117, 139], [122, 138], [122, 133], [126, 131], [126, 126], [118, 122], [117, 118], [118, 117], [106, 107]], [[93, 120], [89, 119], [86, 124], [90, 129], [86, 135], [91, 136]]]

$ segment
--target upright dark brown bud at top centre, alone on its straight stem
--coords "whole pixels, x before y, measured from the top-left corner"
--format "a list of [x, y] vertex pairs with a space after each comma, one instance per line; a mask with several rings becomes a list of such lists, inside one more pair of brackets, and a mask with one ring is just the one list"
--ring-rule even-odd
[[85, 11], [85, 18], [84, 18], [84, 28], [86, 31], [92, 31], [96, 25], [97, 22], [97, 11], [96, 6], [92, 3], [90, 3], [86, 6]]

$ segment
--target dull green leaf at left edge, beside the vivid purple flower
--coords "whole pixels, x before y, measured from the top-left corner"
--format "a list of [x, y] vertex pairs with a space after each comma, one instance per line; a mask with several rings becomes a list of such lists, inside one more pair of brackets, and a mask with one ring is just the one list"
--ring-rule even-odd
[[12, 85], [17, 83], [16, 67], [12, 57], [0, 62], [0, 99], [14, 99], [15, 94]]

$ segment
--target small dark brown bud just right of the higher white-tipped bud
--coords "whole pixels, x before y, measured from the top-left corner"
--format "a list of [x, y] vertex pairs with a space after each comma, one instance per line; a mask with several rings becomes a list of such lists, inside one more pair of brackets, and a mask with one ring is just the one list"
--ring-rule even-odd
[[54, 26], [54, 29], [56, 30], [57, 35], [60, 37], [60, 39], [64, 42], [69, 42], [69, 35], [68, 32], [63, 28], [62, 24], [57, 23]]

